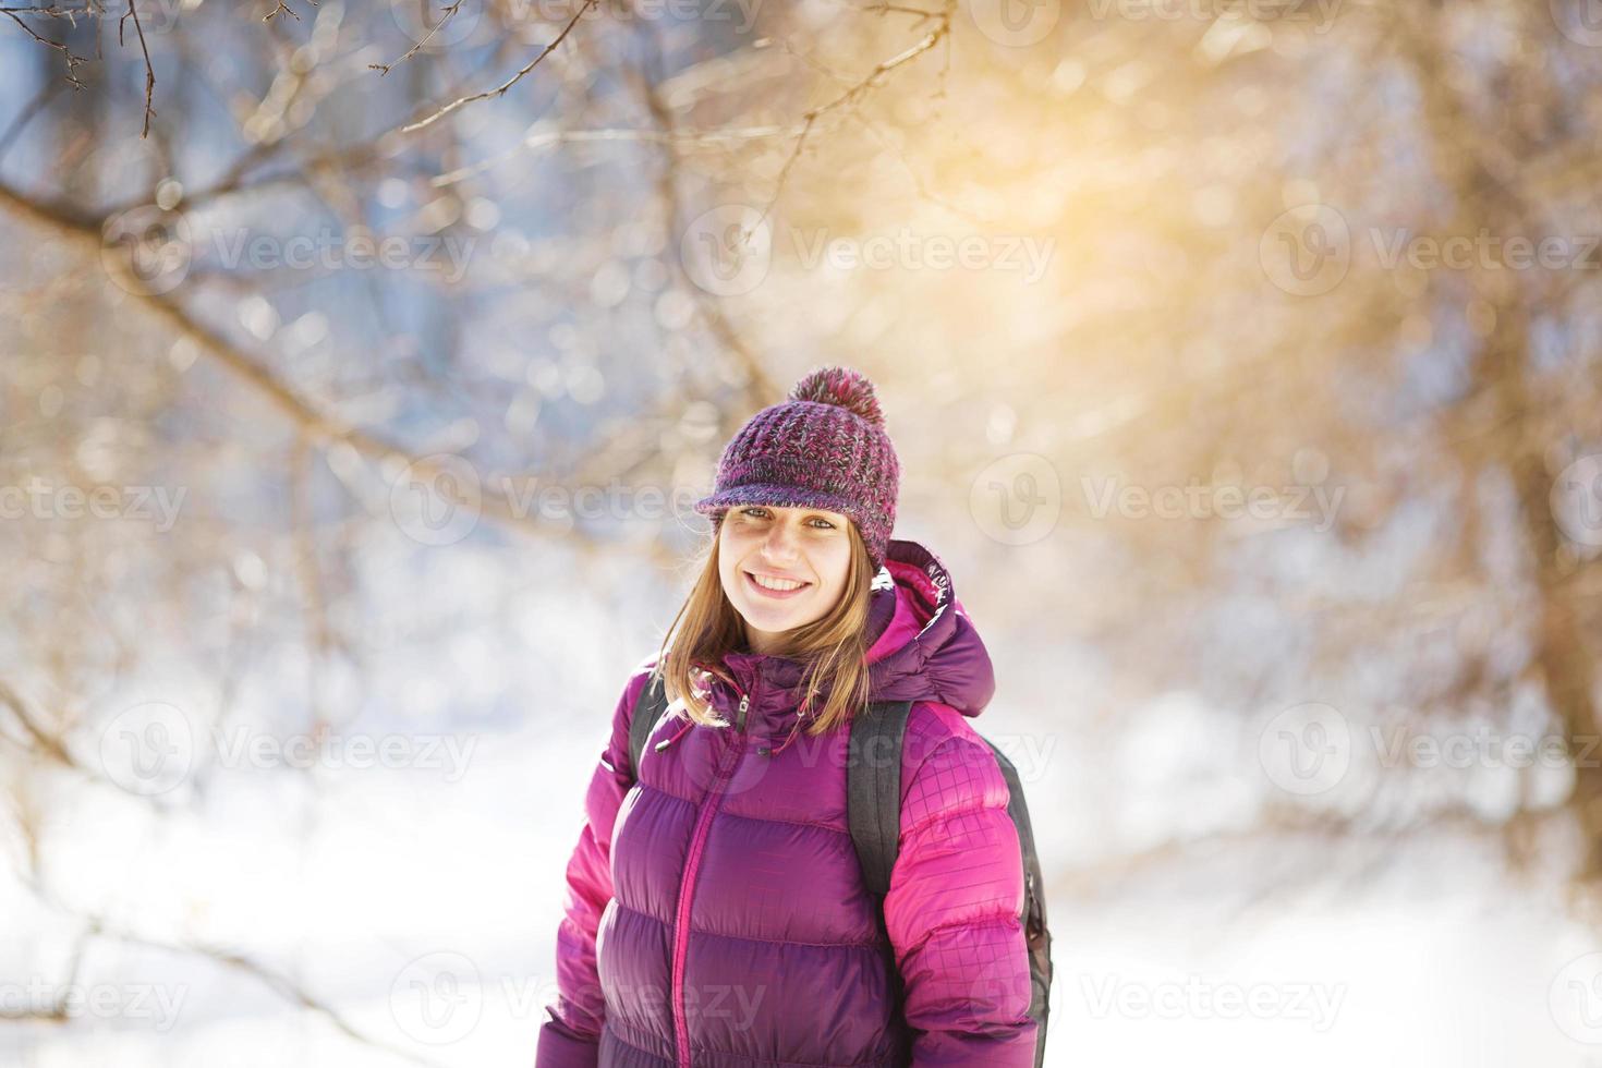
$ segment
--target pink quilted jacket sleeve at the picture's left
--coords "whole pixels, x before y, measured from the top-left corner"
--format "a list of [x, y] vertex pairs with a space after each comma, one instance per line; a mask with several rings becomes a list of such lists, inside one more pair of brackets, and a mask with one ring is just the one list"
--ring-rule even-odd
[[628, 759], [628, 724], [646, 674], [636, 673], [612, 713], [612, 737], [601, 751], [585, 793], [578, 844], [567, 861], [562, 921], [556, 929], [556, 1002], [540, 1028], [535, 1068], [596, 1068], [606, 1001], [596, 974], [596, 930], [612, 900], [612, 825], [634, 781]]

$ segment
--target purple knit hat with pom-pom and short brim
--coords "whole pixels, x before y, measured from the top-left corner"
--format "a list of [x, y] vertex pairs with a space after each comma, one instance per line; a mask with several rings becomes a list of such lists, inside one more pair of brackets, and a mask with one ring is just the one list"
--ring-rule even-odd
[[729, 440], [716, 487], [695, 511], [711, 516], [713, 536], [734, 504], [841, 512], [857, 524], [878, 572], [899, 490], [900, 464], [873, 383], [844, 367], [820, 367]]

